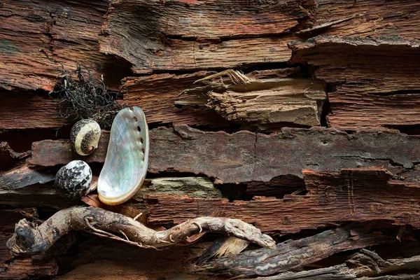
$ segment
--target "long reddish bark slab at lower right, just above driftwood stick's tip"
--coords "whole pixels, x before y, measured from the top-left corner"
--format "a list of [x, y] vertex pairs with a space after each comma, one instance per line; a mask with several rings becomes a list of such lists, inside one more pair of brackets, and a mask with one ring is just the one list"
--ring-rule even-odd
[[[286, 235], [349, 221], [391, 221], [420, 228], [420, 185], [392, 181], [380, 167], [342, 169], [339, 173], [304, 170], [307, 195], [254, 197], [251, 201], [200, 199], [182, 195], [146, 195], [148, 222], [181, 223], [223, 211], [262, 232]], [[398, 195], [395, 195], [398, 193]]]

